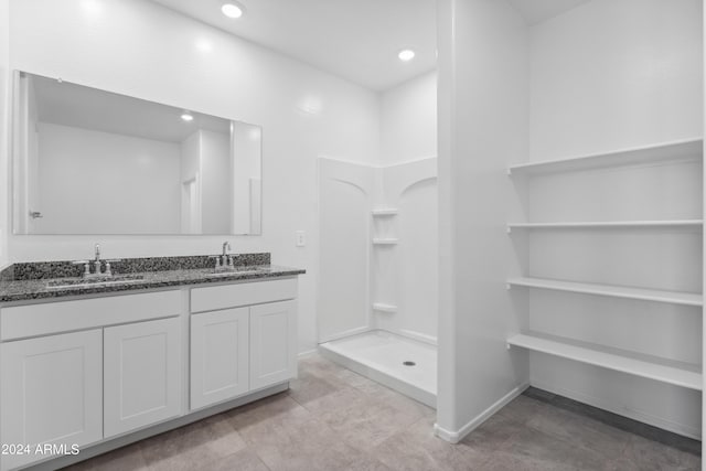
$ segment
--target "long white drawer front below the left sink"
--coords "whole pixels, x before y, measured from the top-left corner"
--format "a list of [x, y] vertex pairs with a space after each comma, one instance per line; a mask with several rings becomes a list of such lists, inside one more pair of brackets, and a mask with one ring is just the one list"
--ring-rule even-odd
[[180, 312], [179, 290], [2, 308], [0, 340], [168, 318]]

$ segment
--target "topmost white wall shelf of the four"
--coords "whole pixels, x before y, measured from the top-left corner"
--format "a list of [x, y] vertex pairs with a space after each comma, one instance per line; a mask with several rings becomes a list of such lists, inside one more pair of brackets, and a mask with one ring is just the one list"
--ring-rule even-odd
[[568, 159], [544, 160], [516, 163], [507, 168], [507, 173], [548, 173], [589, 170], [601, 167], [632, 165], [703, 158], [703, 139], [666, 142], [663, 144], [622, 149], [614, 152], [579, 156]]

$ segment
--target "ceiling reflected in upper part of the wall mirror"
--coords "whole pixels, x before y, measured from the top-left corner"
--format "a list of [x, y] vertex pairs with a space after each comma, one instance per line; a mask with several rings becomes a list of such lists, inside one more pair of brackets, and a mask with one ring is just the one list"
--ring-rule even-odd
[[229, 133], [231, 121], [181, 108], [32, 75], [38, 117], [42, 122], [93, 129], [167, 142], [181, 142], [197, 129]]

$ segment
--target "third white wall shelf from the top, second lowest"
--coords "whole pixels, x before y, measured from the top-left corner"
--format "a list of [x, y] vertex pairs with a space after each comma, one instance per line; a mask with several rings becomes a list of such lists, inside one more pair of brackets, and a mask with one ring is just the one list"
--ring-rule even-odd
[[668, 302], [684, 306], [704, 306], [703, 295], [683, 291], [663, 291], [656, 289], [631, 288], [624, 286], [593, 285], [574, 281], [561, 281], [544, 278], [511, 278], [510, 286], [549, 289], [556, 291], [598, 295], [613, 298], [639, 299], [643, 301]]

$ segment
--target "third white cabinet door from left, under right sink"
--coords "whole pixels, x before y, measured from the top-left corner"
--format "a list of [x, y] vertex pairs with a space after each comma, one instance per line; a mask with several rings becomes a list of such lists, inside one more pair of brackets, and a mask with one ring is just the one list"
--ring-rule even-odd
[[248, 308], [191, 317], [191, 408], [248, 390]]

